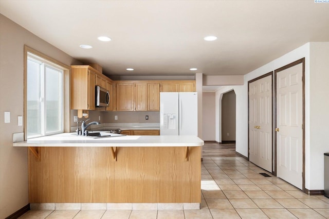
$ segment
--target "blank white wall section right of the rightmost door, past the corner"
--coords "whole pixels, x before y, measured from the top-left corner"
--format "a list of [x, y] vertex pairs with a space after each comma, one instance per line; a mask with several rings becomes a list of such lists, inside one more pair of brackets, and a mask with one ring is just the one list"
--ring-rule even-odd
[[[329, 152], [329, 43], [310, 43], [307, 185], [323, 189], [323, 153]], [[307, 153], [306, 153], [307, 154]], [[312, 179], [312, 180], [311, 180]], [[307, 187], [308, 188], [308, 187]]]

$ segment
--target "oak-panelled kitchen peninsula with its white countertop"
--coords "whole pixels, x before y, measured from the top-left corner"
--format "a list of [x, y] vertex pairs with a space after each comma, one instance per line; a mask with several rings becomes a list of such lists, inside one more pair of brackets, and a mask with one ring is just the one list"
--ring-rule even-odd
[[203, 145], [196, 136], [72, 133], [13, 143], [30, 148], [30, 203], [199, 204]]

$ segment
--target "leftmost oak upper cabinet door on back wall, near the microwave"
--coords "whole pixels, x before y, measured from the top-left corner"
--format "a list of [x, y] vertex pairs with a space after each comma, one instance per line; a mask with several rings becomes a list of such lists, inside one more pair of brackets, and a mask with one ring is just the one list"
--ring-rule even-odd
[[134, 84], [117, 83], [117, 110], [134, 110]]

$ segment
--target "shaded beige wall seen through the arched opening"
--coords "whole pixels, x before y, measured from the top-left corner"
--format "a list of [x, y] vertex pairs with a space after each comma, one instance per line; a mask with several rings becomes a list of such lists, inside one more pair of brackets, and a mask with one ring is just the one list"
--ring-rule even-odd
[[235, 111], [235, 93], [231, 90], [222, 98], [222, 141], [235, 141]]

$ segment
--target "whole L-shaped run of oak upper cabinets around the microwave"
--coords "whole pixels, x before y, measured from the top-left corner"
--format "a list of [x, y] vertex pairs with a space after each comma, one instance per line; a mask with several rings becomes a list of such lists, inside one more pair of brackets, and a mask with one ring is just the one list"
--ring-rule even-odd
[[88, 65], [71, 69], [71, 109], [95, 110], [95, 86], [109, 91], [99, 111], [159, 111], [160, 92], [195, 91], [195, 81], [112, 81]]

